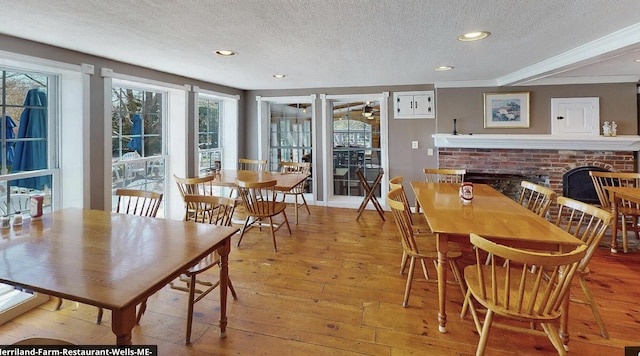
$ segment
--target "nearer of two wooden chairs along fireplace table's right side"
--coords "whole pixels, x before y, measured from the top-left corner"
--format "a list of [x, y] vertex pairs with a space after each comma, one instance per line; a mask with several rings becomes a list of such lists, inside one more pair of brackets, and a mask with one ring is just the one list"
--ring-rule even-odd
[[591, 296], [585, 277], [589, 274], [589, 261], [598, 247], [600, 240], [609, 228], [613, 215], [591, 204], [583, 203], [566, 197], [558, 197], [558, 217], [555, 224], [563, 230], [582, 240], [587, 245], [587, 253], [578, 264], [577, 276], [586, 301], [572, 297], [571, 301], [586, 304], [591, 308], [600, 333], [605, 339], [609, 338], [607, 328], [598, 311], [598, 306]]

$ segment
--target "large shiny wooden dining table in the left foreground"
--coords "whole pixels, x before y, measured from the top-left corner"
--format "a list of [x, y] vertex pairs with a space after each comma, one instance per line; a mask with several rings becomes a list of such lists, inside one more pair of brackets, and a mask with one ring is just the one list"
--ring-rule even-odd
[[234, 227], [62, 209], [0, 230], [0, 282], [112, 312], [118, 345], [131, 344], [136, 305], [217, 250], [220, 336], [226, 334]]

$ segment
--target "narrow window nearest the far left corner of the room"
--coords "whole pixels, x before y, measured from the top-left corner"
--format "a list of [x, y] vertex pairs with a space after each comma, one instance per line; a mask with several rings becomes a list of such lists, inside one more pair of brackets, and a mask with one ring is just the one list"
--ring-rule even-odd
[[222, 112], [224, 101], [210, 96], [198, 97], [198, 162], [201, 173], [222, 164]]

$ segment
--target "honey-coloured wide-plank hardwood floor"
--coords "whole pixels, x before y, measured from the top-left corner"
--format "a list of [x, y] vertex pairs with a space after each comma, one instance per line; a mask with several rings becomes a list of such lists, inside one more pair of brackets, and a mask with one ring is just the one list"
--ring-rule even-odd
[[[291, 236], [286, 230], [276, 233], [277, 253], [264, 229], [247, 232], [239, 248], [234, 237], [229, 267], [239, 299], [229, 295], [226, 338], [218, 337], [216, 291], [196, 304], [193, 344], [185, 346], [187, 295], [165, 287], [149, 299], [146, 314], [133, 330], [134, 344], [158, 345], [160, 355], [475, 353], [478, 335], [470, 316], [458, 317], [462, 295], [456, 285], [451, 284], [447, 293], [446, 334], [438, 332], [435, 283], [416, 280], [409, 307], [402, 308], [406, 275], [399, 273], [401, 247], [391, 213], [382, 222], [368, 210], [356, 221], [356, 210], [310, 208], [310, 216], [301, 213], [299, 225], [291, 225]], [[292, 218], [293, 207], [287, 213]], [[572, 303], [571, 354], [622, 355], [624, 346], [640, 345], [639, 266], [638, 250], [617, 255], [604, 246], [597, 250], [588, 283], [610, 339], [600, 336], [587, 306]], [[577, 280], [574, 286], [581, 293]], [[115, 342], [109, 311], [96, 325], [95, 307], [71, 301], [65, 301], [62, 310], [54, 307], [50, 300], [0, 326], [0, 344], [28, 337], [76, 344]], [[487, 354], [556, 353], [544, 336], [493, 328]]]

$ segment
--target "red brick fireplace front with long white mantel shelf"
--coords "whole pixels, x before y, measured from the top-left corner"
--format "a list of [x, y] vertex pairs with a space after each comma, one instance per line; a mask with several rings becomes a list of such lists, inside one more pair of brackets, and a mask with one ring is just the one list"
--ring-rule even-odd
[[505, 175], [548, 186], [562, 195], [563, 175], [577, 167], [637, 171], [640, 136], [434, 135], [439, 168]]

